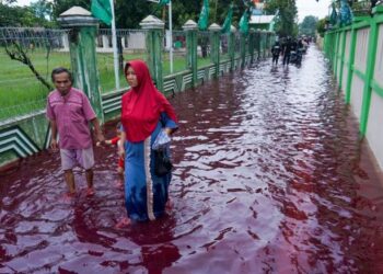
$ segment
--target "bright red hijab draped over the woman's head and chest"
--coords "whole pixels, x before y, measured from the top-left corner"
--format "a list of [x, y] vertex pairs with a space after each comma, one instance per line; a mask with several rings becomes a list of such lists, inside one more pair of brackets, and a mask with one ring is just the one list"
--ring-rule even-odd
[[129, 141], [142, 141], [155, 129], [160, 115], [177, 122], [172, 105], [166, 98], [154, 87], [148, 66], [141, 60], [132, 60], [125, 65], [125, 75], [128, 68], [135, 70], [138, 85], [123, 95], [121, 123]]

